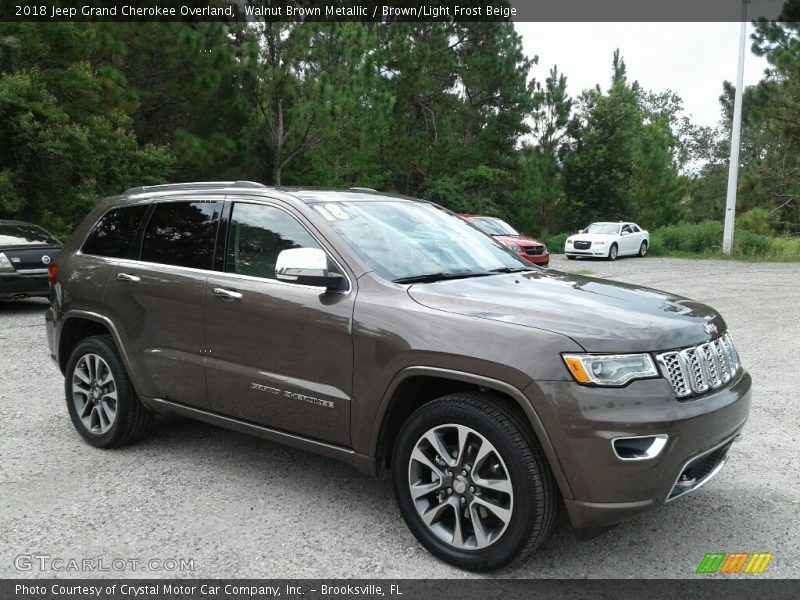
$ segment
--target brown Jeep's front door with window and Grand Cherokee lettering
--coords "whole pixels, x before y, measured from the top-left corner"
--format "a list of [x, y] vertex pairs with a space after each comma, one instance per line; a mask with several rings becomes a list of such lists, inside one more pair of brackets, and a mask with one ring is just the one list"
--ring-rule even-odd
[[223, 272], [205, 288], [212, 409], [349, 446], [355, 290], [277, 280], [282, 250], [328, 250], [287, 208], [242, 201], [230, 210]]

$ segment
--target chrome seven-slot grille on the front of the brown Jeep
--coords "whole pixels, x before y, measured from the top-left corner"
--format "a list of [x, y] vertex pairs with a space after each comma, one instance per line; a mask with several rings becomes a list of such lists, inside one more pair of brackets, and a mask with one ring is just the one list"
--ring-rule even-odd
[[678, 398], [716, 389], [739, 370], [739, 355], [729, 333], [693, 348], [658, 354], [656, 359]]

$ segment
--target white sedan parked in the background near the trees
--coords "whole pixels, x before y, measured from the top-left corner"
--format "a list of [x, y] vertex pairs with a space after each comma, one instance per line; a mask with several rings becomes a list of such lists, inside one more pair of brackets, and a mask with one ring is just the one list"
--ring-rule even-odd
[[564, 254], [573, 260], [596, 256], [616, 260], [617, 256], [644, 256], [650, 247], [650, 234], [636, 223], [592, 223], [567, 238]]

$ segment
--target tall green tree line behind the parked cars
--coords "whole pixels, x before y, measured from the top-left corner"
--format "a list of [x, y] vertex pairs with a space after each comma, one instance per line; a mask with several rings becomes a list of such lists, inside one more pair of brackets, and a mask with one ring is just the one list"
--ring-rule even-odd
[[[745, 97], [739, 210], [764, 233], [800, 230], [796, 6], [753, 40], [771, 68]], [[226, 179], [373, 187], [536, 235], [721, 218], [730, 86], [713, 129], [619, 52], [576, 96], [537, 61], [508, 22], [0, 23], [0, 218], [64, 235], [127, 187]]]

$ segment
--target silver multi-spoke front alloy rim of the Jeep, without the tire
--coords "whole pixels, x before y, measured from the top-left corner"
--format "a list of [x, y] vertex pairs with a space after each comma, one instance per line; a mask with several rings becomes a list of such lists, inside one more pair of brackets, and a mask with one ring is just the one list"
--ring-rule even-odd
[[506, 464], [470, 427], [437, 425], [423, 434], [409, 459], [408, 485], [425, 526], [456, 548], [490, 546], [511, 521], [514, 492]]

